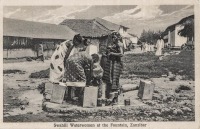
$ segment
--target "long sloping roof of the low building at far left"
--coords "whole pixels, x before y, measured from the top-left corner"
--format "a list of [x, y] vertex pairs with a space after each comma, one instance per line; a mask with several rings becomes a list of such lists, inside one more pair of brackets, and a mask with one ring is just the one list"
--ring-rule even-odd
[[67, 26], [3, 18], [3, 36], [39, 39], [73, 39], [77, 34]]

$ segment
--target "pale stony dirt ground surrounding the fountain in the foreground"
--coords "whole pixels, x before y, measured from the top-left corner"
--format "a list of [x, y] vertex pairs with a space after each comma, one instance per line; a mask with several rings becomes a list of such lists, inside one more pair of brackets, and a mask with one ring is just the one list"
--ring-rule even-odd
[[[168, 76], [148, 78], [155, 83], [152, 101], [142, 101], [137, 97], [138, 90], [123, 93], [120, 101], [130, 98], [131, 106], [112, 106], [105, 110], [69, 110], [53, 113], [42, 110], [43, 95], [37, 89], [48, 79], [31, 79], [33, 72], [49, 68], [45, 62], [6, 62], [3, 65], [4, 122], [51, 122], [51, 121], [194, 121], [193, 80], [183, 80], [176, 76], [170, 81]], [[11, 71], [8, 71], [11, 70]], [[20, 71], [19, 71], [20, 70]], [[134, 74], [121, 78], [120, 84], [139, 85], [141, 79]], [[81, 117], [80, 117], [81, 116]]]

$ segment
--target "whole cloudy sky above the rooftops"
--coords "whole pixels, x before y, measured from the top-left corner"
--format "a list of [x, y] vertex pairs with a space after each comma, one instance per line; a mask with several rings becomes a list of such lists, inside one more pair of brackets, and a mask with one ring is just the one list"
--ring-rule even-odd
[[90, 6], [4, 6], [3, 16], [59, 24], [65, 19], [100, 17], [129, 27], [140, 36], [143, 30], [165, 30], [182, 18], [194, 14], [192, 5], [90, 5]]

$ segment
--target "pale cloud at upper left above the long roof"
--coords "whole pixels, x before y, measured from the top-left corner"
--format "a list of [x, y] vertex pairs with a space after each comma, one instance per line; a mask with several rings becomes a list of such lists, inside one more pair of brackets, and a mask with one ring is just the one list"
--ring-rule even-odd
[[27, 21], [59, 24], [64, 19], [74, 19], [76, 14], [91, 6], [5, 6], [4, 17]]

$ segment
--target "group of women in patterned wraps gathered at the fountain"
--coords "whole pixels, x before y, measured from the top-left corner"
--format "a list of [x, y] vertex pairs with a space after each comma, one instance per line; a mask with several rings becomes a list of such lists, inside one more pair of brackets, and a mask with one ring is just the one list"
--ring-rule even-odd
[[[111, 39], [102, 55], [88, 54], [86, 49], [90, 44], [80, 35], [61, 43], [51, 57], [50, 81], [78, 82], [85, 86], [97, 86], [98, 98], [109, 99], [110, 93], [118, 93], [119, 77], [123, 67], [121, 60], [123, 43], [117, 32], [111, 35]], [[82, 101], [84, 88], [69, 86], [67, 91], [66, 98], [73, 99], [74, 96]]]

